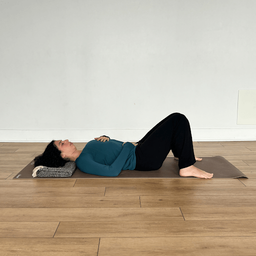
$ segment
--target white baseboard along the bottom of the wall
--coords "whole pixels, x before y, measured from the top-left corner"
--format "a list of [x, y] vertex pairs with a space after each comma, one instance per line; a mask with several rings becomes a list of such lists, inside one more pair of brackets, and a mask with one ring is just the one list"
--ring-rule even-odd
[[[0, 142], [49, 142], [68, 139], [88, 142], [94, 137], [107, 135], [120, 141], [138, 141], [149, 129], [62, 129], [62, 130], [0, 130]], [[256, 140], [255, 128], [191, 129], [193, 141]]]

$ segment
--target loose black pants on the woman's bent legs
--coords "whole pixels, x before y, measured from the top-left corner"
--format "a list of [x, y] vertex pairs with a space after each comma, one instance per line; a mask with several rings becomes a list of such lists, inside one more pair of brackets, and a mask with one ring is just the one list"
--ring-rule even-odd
[[195, 163], [190, 125], [180, 113], [172, 113], [140, 139], [135, 149], [135, 170], [157, 170], [171, 150], [179, 169]]

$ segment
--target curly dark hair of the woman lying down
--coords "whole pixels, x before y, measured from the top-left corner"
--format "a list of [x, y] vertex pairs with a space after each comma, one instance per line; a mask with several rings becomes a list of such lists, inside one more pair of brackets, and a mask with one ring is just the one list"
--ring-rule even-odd
[[55, 140], [50, 141], [44, 152], [34, 157], [34, 167], [43, 165], [47, 167], [62, 167], [68, 162], [68, 159], [63, 159], [60, 155], [61, 151], [54, 144]]

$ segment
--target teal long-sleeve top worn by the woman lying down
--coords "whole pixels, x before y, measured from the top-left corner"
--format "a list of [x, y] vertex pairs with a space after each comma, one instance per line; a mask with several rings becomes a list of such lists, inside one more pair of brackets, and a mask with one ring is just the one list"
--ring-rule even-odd
[[132, 143], [115, 139], [91, 140], [75, 159], [83, 172], [100, 176], [117, 176], [121, 170], [133, 170], [136, 165], [135, 148]]

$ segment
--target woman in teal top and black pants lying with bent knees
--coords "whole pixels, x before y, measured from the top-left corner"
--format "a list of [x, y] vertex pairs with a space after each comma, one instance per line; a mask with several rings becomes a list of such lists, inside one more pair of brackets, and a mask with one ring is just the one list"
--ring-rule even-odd
[[44, 152], [34, 158], [34, 166], [59, 167], [74, 161], [86, 173], [117, 176], [121, 170], [157, 170], [169, 151], [178, 160], [180, 176], [211, 178], [213, 173], [196, 168], [201, 158], [194, 156], [190, 125], [180, 113], [172, 113], [156, 124], [137, 143], [122, 142], [108, 136], [96, 137], [82, 150], [72, 142], [52, 140]]

